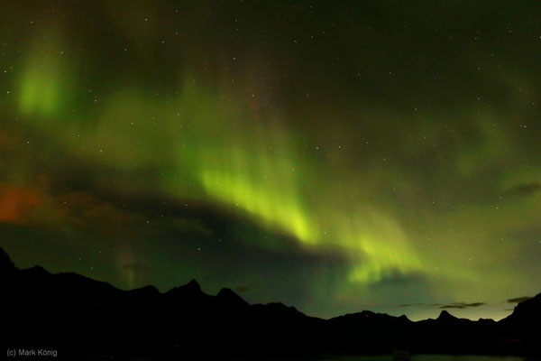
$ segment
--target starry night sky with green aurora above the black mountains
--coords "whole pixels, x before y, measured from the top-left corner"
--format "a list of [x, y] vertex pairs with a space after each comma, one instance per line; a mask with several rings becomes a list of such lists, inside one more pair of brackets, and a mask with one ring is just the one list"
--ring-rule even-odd
[[541, 292], [541, 3], [5, 1], [0, 246], [329, 318]]

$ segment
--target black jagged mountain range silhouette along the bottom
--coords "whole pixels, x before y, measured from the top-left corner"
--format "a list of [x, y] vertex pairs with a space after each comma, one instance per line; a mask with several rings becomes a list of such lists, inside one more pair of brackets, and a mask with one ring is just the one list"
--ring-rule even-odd
[[[411, 321], [369, 310], [318, 319], [282, 303], [249, 304], [196, 280], [160, 293], [122, 291], [77, 273], [19, 270], [0, 248], [5, 349], [52, 348], [58, 358], [183, 359], [266, 356], [430, 354], [538, 356], [541, 294], [506, 319]], [[401, 354], [400, 354], [401, 355]], [[109, 358], [111, 359], [111, 358]]]

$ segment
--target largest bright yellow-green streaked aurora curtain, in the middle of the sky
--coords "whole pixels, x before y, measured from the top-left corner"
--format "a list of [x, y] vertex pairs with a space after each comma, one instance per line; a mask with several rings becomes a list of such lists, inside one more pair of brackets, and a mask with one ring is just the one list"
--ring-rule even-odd
[[272, 131], [244, 134], [257, 134], [252, 142], [259, 146], [246, 144], [248, 140], [237, 135], [234, 147], [202, 154], [200, 181], [206, 193], [299, 242], [316, 244], [317, 225], [308, 213], [306, 195], [301, 192], [303, 183], [298, 178], [302, 169], [289, 159], [288, 146], [270, 137]]

